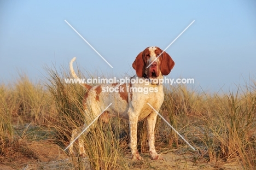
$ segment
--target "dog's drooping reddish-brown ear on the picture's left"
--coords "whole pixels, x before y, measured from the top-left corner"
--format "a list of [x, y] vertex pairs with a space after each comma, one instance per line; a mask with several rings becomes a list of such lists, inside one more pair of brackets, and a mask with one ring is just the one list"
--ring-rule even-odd
[[144, 62], [144, 51], [140, 52], [135, 61], [132, 63], [132, 67], [135, 69], [138, 77], [143, 77], [145, 72], [145, 62]]

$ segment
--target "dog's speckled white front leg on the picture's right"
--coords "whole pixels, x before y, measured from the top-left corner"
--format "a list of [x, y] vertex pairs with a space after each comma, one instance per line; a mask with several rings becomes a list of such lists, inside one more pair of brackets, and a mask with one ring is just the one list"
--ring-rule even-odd
[[147, 127], [148, 127], [148, 145], [149, 145], [149, 152], [151, 154], [152, 160], [162, 160], [161, 154], [156, 153], [155, 151], [155, 124], [156, 118], [158, 114], [154, 111], [148, 115], [147, 118]]

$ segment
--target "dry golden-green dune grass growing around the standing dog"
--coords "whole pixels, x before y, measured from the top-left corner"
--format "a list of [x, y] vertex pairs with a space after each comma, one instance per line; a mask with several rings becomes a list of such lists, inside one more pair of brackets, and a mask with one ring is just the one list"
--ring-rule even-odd
[[[66, 84], [68, 69], [57, 72], [47, 68], [44, 82], [32, 83], [26, 75], [11, 85], [0, 85], [0, 158], [21, 147], [26, 135], [16, 126], [34, 124], [50, 127], [52, 142], [61, 148], [69, 144], [71, 132], [83, 125], [83, 97], [86, 90]], [[83, 78], [83, 75], [79, 73]], [[256, 84], [238, 87], [237, 91], [207, 93], [187, 86], [165, 89], [160, 114], [195, 146], [199, 155], [210, 162], [236, 161], [244, 169], [256, 167]], [[146, 122], [138, 124], [138, 150], [148, 154]], [[156, 150], [166, 153], [189, 146], [160, 118], [156, 124]], [[26, 132], [24, 131], [24, 134]], [[82, 136], [92, 169], [129, 169], [131, 163], [129, 126], [113, 118], [109, 124], [97, 122], [94, 131]], [[29, 142], [29, 141], [27, 141]], [[77, 145], [74, 147], [78, 150]], [[83, 157], [69, 155], [74, 169], [84, 169]]]

